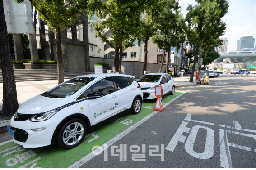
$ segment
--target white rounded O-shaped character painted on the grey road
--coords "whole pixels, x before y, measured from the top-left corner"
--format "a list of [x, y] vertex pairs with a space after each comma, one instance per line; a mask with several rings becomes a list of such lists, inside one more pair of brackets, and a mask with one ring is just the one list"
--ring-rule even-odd
[[[205, 141], [205, 149], [202, 153], [197, 153], [194, 151], [194, 144], [195, 144], [195, 138], [198, 134], [199, 129], [205, 129], [206, 131], [206, 141]], [[187, 137], [186, 143], [185, 143], [185, 150], [188, 154], [190, 154], [192, 157], [196, 157], [199, 159], [209, 159], [213, 157], [214, 155], [214, 130], [210, 129], [209, 127], [205, 126], [193, 126], [189, 136]]]

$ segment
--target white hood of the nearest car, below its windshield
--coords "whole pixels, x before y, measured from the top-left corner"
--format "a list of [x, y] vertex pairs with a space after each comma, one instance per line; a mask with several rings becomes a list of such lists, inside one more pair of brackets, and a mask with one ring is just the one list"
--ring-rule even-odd
[[18, 109], [18, 113], [22, 114], [37, 114], [47, 112], [57, 107], [61, 107], [70, 103], [70, 98], [48, 98], [37, 95], [28, 99]]

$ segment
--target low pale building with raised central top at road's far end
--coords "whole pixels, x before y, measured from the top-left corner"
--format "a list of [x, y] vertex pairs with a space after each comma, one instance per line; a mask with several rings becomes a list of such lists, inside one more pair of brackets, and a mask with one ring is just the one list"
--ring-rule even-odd
[[223, 62], [212, 63], [209, 68], [223, 68], [228, 71], [233, 71], [238, 68], [247, 68], [247, 63], [232, 62], [230, 58], [223, 59]]

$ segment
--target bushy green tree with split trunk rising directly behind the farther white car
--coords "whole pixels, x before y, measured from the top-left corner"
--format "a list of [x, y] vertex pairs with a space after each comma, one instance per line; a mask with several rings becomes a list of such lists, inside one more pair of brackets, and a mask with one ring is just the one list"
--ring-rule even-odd
[[[164, 8], [158, 14], [158, 18], [156, 19], [156, 27], [158, 31], [152, 36], [152, 41], [157, 45], [158, 49], [163, 49], [163, 57], [159, 72], [162, 71], [166, 50], [169, 52], [171, 47], [177, 47], [179, 49], [180, 43], [184, 40], [179, 24], [179, 19], [182, 17], [179, 11], [180, 8], [177, 0], [166, 0], [164, 2]], [[169, 59], [167, 60], [169, 61]], [[168, 72], [168, 63], [166, 64], [166, 72]]]

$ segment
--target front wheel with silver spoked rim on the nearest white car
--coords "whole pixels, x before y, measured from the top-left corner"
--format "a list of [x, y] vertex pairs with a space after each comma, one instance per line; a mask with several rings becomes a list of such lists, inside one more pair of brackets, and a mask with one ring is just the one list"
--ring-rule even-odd
[[78, 146], [86, 135], [86, 124], [80, 119], [71, 119], [62, 125], [57, 134], [57, 144], [64, 149]]

